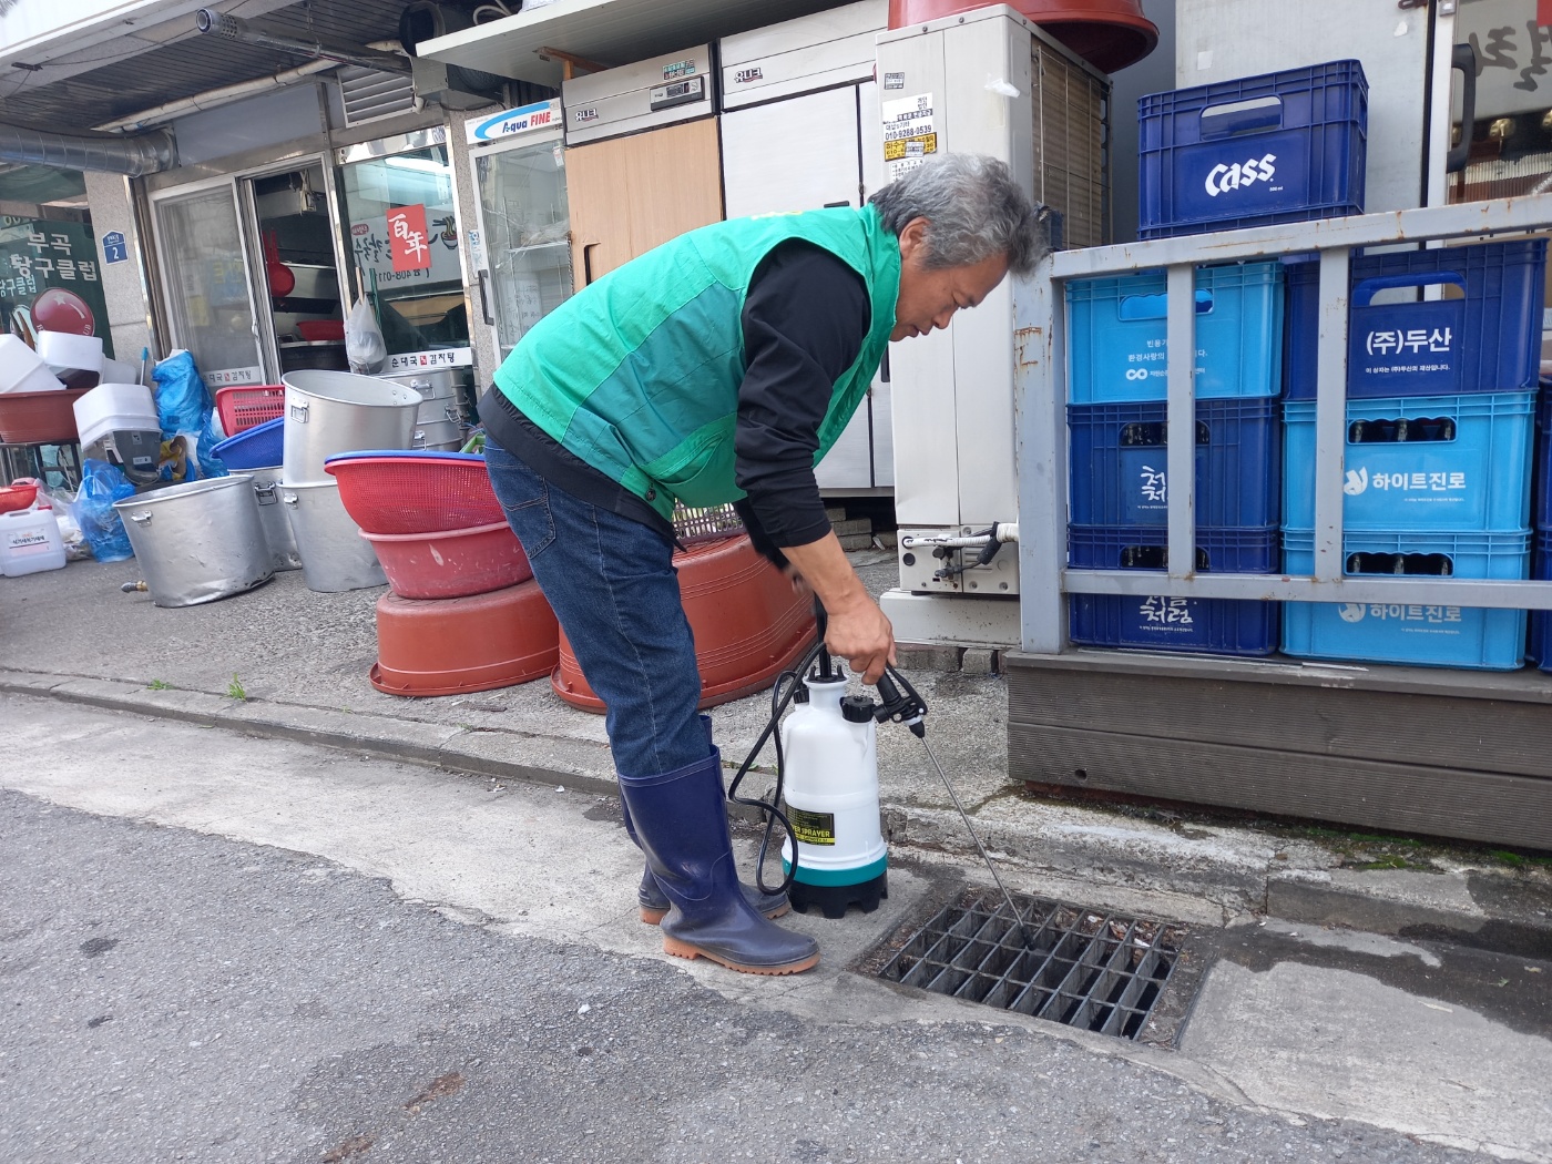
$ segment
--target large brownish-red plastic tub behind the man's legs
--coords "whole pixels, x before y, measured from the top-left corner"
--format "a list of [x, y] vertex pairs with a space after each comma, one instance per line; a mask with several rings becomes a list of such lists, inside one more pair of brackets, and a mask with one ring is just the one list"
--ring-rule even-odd
[[[695, 635], [702, 708], [770, 686], [813, 641], [812, 601], [795, 594], [792, 582], [756, 553], [747, 535], [694, 545], [675, 554], [674, 565]], [[565, 633], [549, 686], [576, 708], [604, 711]]]

